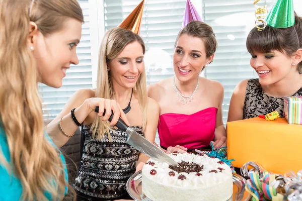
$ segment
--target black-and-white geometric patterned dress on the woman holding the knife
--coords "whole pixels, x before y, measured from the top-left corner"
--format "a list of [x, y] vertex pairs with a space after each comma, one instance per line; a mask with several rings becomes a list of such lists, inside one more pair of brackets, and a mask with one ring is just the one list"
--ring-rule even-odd
[[[83, 126], [85, 137], [79, 176], [74, 189], [92, 197], [118, 198], [127, 194], [126, 182], [135, 172], [135, 163], [140, 153], [126, 143], [127, 133], [109, 130], [108, 135], [98, 140], [92, 138], [90, 125]], [[141, 127], [131, 127], [141, 136]]]

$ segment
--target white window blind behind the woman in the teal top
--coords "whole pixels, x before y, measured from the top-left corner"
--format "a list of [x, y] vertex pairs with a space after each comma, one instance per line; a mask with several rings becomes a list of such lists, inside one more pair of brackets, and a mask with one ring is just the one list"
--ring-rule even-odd
[[90, 37], [90, 16], [88, 0], [79, 0], [83, 9], [85, 23], [82, 25], [82, 38], [77, 46], [77, 55], [80, 63], [70, 65], [63, 78], [63, 85], [60, 88], [52, 88], [40, 84], [40, 94], [43, 100], [43, 116], [45, 121], [54, 119], [63, 109], [69, 97], [81, 88], [92, 88], [92, 67], [91, 67], [91, 37]]

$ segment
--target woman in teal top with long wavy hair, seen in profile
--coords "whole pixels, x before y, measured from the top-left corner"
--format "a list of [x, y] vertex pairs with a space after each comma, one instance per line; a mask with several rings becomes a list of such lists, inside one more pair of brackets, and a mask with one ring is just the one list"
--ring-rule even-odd
[[77, 0], [0, 1], [1, 201], [62, 200], [67, 192], [65, 160], [44, 132], [38, 82], [58, 88], [79, 63], [83, 22]]

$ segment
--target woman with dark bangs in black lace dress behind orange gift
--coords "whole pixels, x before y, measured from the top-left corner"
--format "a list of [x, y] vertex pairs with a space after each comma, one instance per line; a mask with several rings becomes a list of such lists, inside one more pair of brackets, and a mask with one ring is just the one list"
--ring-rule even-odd
[[294, 26], [263, 31], [254, 28], [247, 38], [251, 66], [259, 78], [241, 81], [231, 98], [228, 122], [277, 111], [283, 115], [284, 96], [302, 96], [302, 18]]

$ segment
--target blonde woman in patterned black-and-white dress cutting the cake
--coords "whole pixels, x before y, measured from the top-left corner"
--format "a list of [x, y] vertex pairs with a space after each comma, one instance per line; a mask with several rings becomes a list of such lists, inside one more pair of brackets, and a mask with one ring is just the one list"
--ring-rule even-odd
[[[126, 143], [125, 132], [111, 127], [121, 116], [128, 126], [154, 143], [159, 106], [146, 94], [144, 53], [144, 43], [137, 34], [121, 28], [107, 31], [100, 47], [97, 88], [75, 92], [46, 128], [60, 147], [83, 125], [85, 143], [79, 176], [73, 185], [77, 200], [124, 198], [128, 178], [148, 159]], [[97, 106], [99, 114], [94, 112]], [[104, 109], [106, 115], [102, 117]], [[111, 110], [115, 117], [110, 125], [107, 120]]]

